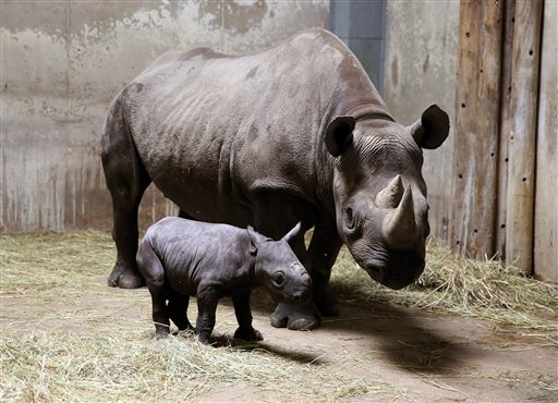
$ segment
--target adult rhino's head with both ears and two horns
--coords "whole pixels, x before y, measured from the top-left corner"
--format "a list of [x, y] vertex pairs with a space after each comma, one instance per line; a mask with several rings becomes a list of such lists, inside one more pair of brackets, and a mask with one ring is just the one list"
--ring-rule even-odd
[[381, 284], [401, 289], [424, 270], [429, 233], [422, 148], [439, 147], [449, 119], [437, 106], [410, 127], [338, 117], [326, 131], [336, 158], [337, 229], [356, 262]]

